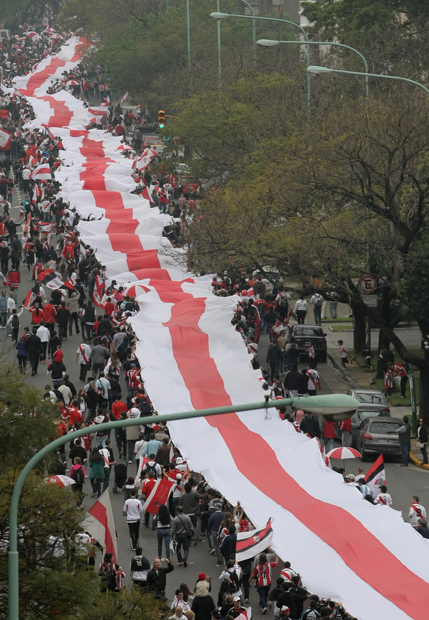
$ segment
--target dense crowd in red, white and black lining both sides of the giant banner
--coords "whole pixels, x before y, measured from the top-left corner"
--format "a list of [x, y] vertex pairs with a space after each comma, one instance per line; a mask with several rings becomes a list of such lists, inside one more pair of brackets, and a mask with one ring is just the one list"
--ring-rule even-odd
[[[31, 31], [38, 32], [37, 37], [24, 34], [30, 26]], [[59, 137], [46, 130], [22, 128], [34, 118], [34, 114], [26, 98], [13, 89], [11, 79], [15, 75], [26, 75], [37, 61], [56, 52], [66, 36], [67, 33], [54, 36], [54, 31], [46, 24], [43, 28], [25, 24], [20, 36], [16, 36], [8, 49], [1, 52], [4, 88], [0, 98], [1, 126], [11, 135], [0, 162], [1, 275], [9, 291], [3, 289], [1, 292], [0, 327], [7, 330], [7, 336], [16, 348], [20, 372], [38, 375], [39, 365], [44, 364], [50, 373], [51, 381], [45, 386], [44, 398], [57, 404], [58, 436], [94, 423], [154, 413], [135, 354], [136, 338], [127, 323], [128, 317], [138, 312], [135, 299], [114, 280], [106, 284], [106, 266], [98, 262], [93, 248], [80, 241], [76, 229], [80, 216], [59, 196], [61, 186], [54, 175], [43, 183], [31, 179], [31, 169], [40, 163], [49, 164], [52, 172], [61, 165], [63, 145]], [[85, 66], [64, 73], [61, 80], [52, 84], [50, 92], [60, 89], [70, 90], [88, 107], [87, 96], [109, 95], [103, 80], [91, 76]], [[142, 134], [137, 129], [145, 123], [142, 110], [137, 109], [137, 114], [133, 114], [124, 112], [121, 105], [112, 107], [108, 100], [106, 103], [107, 114], [90, 127], [123, 135], [124, 144], [130, 147], [124, 156], [135, 157], [137, 161], [144, 152]], [[152, 205], [163, 213], [172, 214], [174, 219], [170, 227], [166, 227], [165, 235], [173, 243], [179, 243], [181, 222], [192, 217], [195, 211], [197, 188], [179, 182], [174, 174], [158, 182], [150, 167], [143, 172], [138, 165], [134, 178], [136, 193], [151, 188]], [[15, 221], [10, 214], [17, 189], [23, 192], [24, 199], [20, 201], [20, 218]], [[26, 270], [33, 280], [28, 292], [22, 292], [20, 270]], [[98, 298], [102, 303], [95, 305], [94, 292], [98, 287], [103, 287], [102, 300]], [[308, 302], [303, 296], [292, 307], [291, 296], [283, 284], [268, 293], [260, 275], [246, 275], [243, 269], [216, 275], [213, 289], [220, 295], [241, 294], [242, 301], [233, 324], [246, 340], [256, 370], [260, 368], [257, 358], [259, 335], [269, 333], [271, 346], [266, 358], [267, 368], [261, 368], [263, 391], [272, 398], [283, 398], [285, 395], [311, 395], [320, 389], [314, 350], [312, 353], [309, 347], [310, 363], [299, 372], [296, 345], [289, 339], [288, 319], [292, 312], [297, 322], [303, 324], [306, 320]], [[315, 324], [320, 323], [326, 308], [329, 308], [331, 317], [336, 317], [334, 292], [328, 300], [315, 293], [310, 303], [313, 304]], [[24, 312], [29, 312], [24, 317], [29, 318], [30, 326], [23, 326]], [[66, 368], [63, 360], [63, 349], [73, 333], [82, 338], [77, 349], [73, 350], [78, 379], [75, 369]], [[347, 356], [344, 347], [343, 353]], [[402, 391], [405, 375], [398, 365], [393, 370], [389, 365], [388, 369], [393, 377], [400, 377]], [[285, 379], [280, 381], [283, 372]], [[72, 375], [76, 377], [73, 381], [70, 379]], [[82, 386], [77, 388], [77, 381]], [[294, 425], [297, 432], [319, 439], [321, 451], [329, 451], [333, 446], [336, 437], [333, 423], [324, 421], [321, 428], [316, 416], [301, 409], [288, 414], [284, 407], [280, 407], [279, 415], [286, 423]], [[346, 422], [340, 429], [343, 445], [348, 445], [347, 429]], [[112, 439], [116, 448], [112, 447]], [[84, 500], [86, 479], [91, 484], [93, 498], [100, 497], [106, 490], [117, 492], [121, 489], [130, 547], [135, 553], [130, 561], [130, 580], [135, 587], [153, 593], [164, 603], [167, 602], [167, 575], [175, 570], [172, 556], [176, 556], [177, 568], [187, 568], [193, 546], [199, 541], [208, 543], [208, 553], [216, 561], [219, 571], [217, 599], [211, 593], [211, 577], [200, 573], [195, 586], [190, 588], [183, 582], [176, 589], [165, 617], [174, 620], [183, 617], [247, 620], [253, 580], [262, 614], [270, 610], [276, 618], [293, 620], [350, 617], [340, 603], [323, 600], [308, 592], [303, 585], [305, 580], [287, 561], [274, 581], [273, 570], [280, 560], [269, 549], [253, 559], [237, 561], [237, 534], [253, 529], [253, 524], [239, 503], [232, 506], [202, 476], [188, 469], [186, 459], [172, 444], [167, 426], [160, 423], [118, 428], [112, 439], [110, 432], [88, 432], [59, 453], [52, 474], [67, 473], [73, 478], [77, 504]], [[421, 441], [423, 439], [421, 432]], [[128, 462], [128, 469], [119, 467], [121, 460], [125, 464]], [[134, 465], [133, 476], [130, 471]], [[123, 471], [126, 471], [125, 476]], [[386, 486], [381, 488], [377, 497], [373, 497], [364, 483], [363, 473], [359, 474], [360, 478], [346, 476], [344, 471], [338, 471], [338, 474], [344, 476], [345, 484], [356, 485], [356, 492], [361, 492], [363, 499], [391, 506]], [[172, 482], [172, 492], [167, 504], [161, 504], [153, 515], [144, 511], [143, 505], [160, 478]], [[413, 497], [409, 517], [412, 527], [421, 536], [429, 538], [426, 511], [419, 504], [419, 497]], [[152, 561], [143, 555], [141, 523], [156, 532], [157, 555]], [[99, 574], [105, 589], [119, 591], [123, 587], [126, 573], [113, 563], [112, 554], [105, 554]]]

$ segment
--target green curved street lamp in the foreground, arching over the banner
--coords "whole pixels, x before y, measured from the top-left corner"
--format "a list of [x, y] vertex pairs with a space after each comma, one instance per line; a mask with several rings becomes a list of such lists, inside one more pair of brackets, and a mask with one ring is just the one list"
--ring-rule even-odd
[[269, 400], [265, 402], [253, 402], [239, 405], [231, 405], [229, 407], [212, 407], [210, 409], [198, 409], [197, 411], [183, 411], [177, 414], [162, 414], [160, 416], [146, 416], [144, 418], [129, 418], [128, 420], [116, 420], [113, 422], [105, 422], [102, 424], [87, 426], [59, 437], [50, 444], [39, 450], [25, 465], [17, 478], [13, 487], [12, 497], [10, 499], [9, 514], [9, 552], [8, 552], [8, 587], [9, 587], [9, 620], [20, 620], [20, 565], [18, 557], [18, 503], [20, 494], [27, 476], [38, 462], [47, 456], [50, 452], [67, 444], [69, 441], [75, 441], [77, 437], [91, 432], [100, 432], [110, 430], [111, 428], [126, 428], [128, 426], [137, 426], [151, 423], [172, 422], [176, 420], [185, 420], [188, 418], [201, 418], [206, 416], [217, 416], [220, 414], [230, 414], [239, 411], [253, 411], [255, 409], [268, 409], [269, 407], [285, 407], [287, 405], [305, 409], [313, 414], [319, 414], [331, 421], [345, 420], [354, 414], [358, 409], [359, 402], [352, 396], [347, 394], [326, 394], [320, 396], [301, 396], [299, 398], [283, 398], [281, 400]]

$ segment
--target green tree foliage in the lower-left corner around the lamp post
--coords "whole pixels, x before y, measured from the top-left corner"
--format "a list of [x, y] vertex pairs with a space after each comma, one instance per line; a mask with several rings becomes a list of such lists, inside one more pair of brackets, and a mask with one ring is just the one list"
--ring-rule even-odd
[[[43, 400], [16, 370], [0, 366], [0, 619], [7, 616], [8, 517], [13, 486], [22, 467], [55, 435], [59, 411]], [[100, 579], [86, 566], [89, 550], [75, 545], [84, 516], [70, 487], [47, 485], [55, 455], [40, 462], [27, 478], [18, 508], [20, 618], [23, 620], [156, 620], [158, 604], [149, 595], [100, 591]], [[59, 539], [64, 554], [53, 552]]]

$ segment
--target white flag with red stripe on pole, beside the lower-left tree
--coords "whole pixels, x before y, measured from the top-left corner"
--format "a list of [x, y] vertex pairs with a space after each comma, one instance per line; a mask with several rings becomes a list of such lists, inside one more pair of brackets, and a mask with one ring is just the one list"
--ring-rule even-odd
[[86, 513], [84, 520], [80, 524], [84, 531], [93, 536], [103, 547], [104, 553], [113, 554], [113, 562], [116, 564], [116, 530], [110, 504], [109, 489], [100, 495], [98, 500]]

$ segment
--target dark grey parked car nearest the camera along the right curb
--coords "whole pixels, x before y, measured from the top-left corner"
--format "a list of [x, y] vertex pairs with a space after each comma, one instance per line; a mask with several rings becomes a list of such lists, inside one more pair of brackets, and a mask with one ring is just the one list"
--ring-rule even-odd
[[402, 421], [398, 418], [377, 416], [366, 418], [355, 434], [355, 445], [365, 461], [370, 453], [400, 456], [398, 428]]

